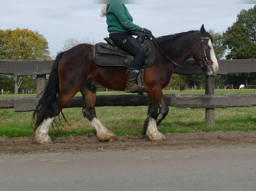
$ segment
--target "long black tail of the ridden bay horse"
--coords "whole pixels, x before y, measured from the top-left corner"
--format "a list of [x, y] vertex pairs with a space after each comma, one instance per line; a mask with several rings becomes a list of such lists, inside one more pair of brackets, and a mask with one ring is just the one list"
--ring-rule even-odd
[[48, 117], [54, 117], [56, 114], [53, 111], [52, 103], [57, 98], [59, 94], [59, 79], [58, 79], [58, 64], [64, 52], [61, 52], [56, 57], [43, 95], [39, 100], [35, 111], [33, 113], [33, 118], [31, 125], [35, 121], [35, 129], [43, 122], [44, 119]]

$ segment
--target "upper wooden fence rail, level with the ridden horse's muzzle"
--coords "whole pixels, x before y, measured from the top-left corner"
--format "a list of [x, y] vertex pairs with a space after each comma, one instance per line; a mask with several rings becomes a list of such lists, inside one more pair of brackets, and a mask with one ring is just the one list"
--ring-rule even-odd
[[[53, 60], [37, 60], [37, 61], [12, 61], [0, 60], [0, 74], [13, 74], [15, 76], [28, 75], [44, 75], [49, 74], [53, 64]], [[256, 59], [243, 60], [218, 60], [219, 75], [226, 75], [230, 73], [245, 73], [256, 72]], [[194, 60], [189, 59], [182, 63], [181, 66], [186, 68], [193, 68]], [[188, 70], [183, 68], [176, 68], [176, 74], [203, 74], [201, 68]]]

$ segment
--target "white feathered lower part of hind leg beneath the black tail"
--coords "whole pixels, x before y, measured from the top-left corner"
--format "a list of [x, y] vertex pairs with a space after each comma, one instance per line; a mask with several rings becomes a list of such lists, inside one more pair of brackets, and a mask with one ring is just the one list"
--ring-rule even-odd
[[35, 129], [34, 139], [39, 144], [52, 144], [51, 138], [48, 135], [49, 128], [55, 117], [44, 119], [43, 122]]

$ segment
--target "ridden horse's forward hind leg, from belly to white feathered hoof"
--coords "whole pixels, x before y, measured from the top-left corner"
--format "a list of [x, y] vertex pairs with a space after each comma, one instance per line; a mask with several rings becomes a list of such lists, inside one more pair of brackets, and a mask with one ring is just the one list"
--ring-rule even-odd
[[117, 138], [115, 133], [109, 131], [96, 116], [96, 85], [93, 83], [85, 84], [82, 86], [80, 91], [84, 98], [82, 112], [84, 116], [91, 122], [92, 126], [95, 128], [99, 141], [114, 141]]

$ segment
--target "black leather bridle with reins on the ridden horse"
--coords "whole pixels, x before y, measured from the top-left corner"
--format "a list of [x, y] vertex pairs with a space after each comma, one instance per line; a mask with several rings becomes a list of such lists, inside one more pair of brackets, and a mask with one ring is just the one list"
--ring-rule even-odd
[[[161, 49], [161, 48], [158, 46], [158, 44], [156, 43], [155, 37], [154, 37], [153, 35], [151, 35], [149, 38], [152, 39], [153, 43], [159, 48], [159, 50], [162, 52], [162, 54], [165, 56], [165, 58], [166, 58], [167, 60], [169, 60], [172, 64], [174, 64], [174, 65], [176, 65], [176, 66], [178, 66], [178, 67], [181, 67], [181, 68], [184, 68], [184, 69], [189, 69], [189, 70], [191, 70], [191, 69], [198, 69], [198, 68], [203, 68], [204, 70], [206, 70], [206, 68], [211, 68], [211, 62], [208, 61], [208, 58], [207, 58], [207, 56], [206, 56], [205, 47], [204, 47], [204, 39], [211, 39], [210, 37], [200, 37], [201, 44], [202, 44], [202, 49], [203, 49], [203, 53], [204, 53], [205, 59], [206, 59], [206, 63], [205, 63], [205, 65], [199, 66], [199, 67], [196, 67], [196, 68], [186, 68], [186, 67], [184, 67], [184, 66], [181, 66], [181, 65], [177, 64], [176, 62], [174, 62], [173, 60], [171, 60], [168, 56], [166, 56], [166, 55], [164, 54], [164, 52], [162, 51], [162, 49]], [[200, 44], [199, 44], [199, 47], [200, 47]], [[198, 48], [198, 49], [199, 49], [199, 48]], [[197, 53], [196, 53], [195, 55], [197, 55]], [[189, 63], [189, 64], [190, 64], [190, 63]]]

